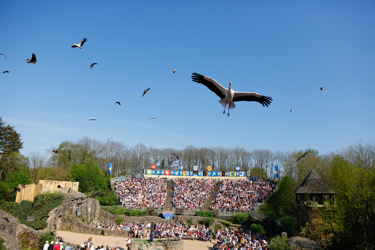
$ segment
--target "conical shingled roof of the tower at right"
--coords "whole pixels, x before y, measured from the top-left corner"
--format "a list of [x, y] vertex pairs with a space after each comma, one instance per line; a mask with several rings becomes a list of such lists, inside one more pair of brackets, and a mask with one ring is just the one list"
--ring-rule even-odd
[[336, 193], [330, 189], [327, 183], [312, 169], [301, 186], [293, 193]]

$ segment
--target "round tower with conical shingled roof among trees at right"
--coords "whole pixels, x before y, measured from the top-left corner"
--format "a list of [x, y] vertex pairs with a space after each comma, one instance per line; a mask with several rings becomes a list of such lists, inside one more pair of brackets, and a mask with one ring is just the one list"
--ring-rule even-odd
[[336, 198], [336, 192], [330, 189], [314, 169], [293, 193], [296, 194], [295, 217], [302, 226], [305, 226], [306, 222], [311, 222], [317, 209], [323, 209], [329, 203], [334, 204]]

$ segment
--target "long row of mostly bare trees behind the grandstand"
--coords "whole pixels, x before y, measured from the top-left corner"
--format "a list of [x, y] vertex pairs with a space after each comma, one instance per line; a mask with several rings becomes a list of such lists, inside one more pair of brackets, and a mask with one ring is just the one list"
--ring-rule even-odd
[[[53, 153], [52, 150], [58, 151]], [[58, 146], [51, 146], [45, 152], [31, 152], [27, 157], [17, 156], [19, 164], [28, 165], [31, 179], [53, 178], [53, 180], [69, 180], [69, 168], [77, 164], [95, 162], [104, 171], [108, 171], [108, 162], [112, 162], [112, 177], [135, 174], [143, 168], [177, 169], [183, 165], [185, 169], [198, 166], [200, 170], [230, 170], [240, 166], [241, 170], [251, 171], [251, 175], [274, 179], [274, 166], [279, 166], [279, 176], [290, 175], [303, 180], [314, 168], [321, 175], [329, 172], [330, 155], [319, 155], [311, 150], [308, 157], [296, 160], [306, 151], [271, 151], [269, 149], [246, 150], [243, 147], [201, 147], [187, 145], [185, 148], [155, 148], [139, 143], [132, 147], [114, 140], [101, 142], [97, 139], [84, 137], [76, 142], [64, 141]], [[172, 153], [176, 153], [176, 159]], [[17, 170], [15, 165], [5, 167], [3, 178]], [[322, 177], [323, 177], [322, 176]]]

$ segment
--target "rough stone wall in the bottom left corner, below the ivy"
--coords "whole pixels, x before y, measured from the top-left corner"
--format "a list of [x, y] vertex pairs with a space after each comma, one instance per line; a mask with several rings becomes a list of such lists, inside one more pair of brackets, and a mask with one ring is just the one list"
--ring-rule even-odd
[[39, 247], [40, 235], [43, 232], [21, 224], [16, 217], [0, 210], [0, 231], [10, 235], [22, 247]]

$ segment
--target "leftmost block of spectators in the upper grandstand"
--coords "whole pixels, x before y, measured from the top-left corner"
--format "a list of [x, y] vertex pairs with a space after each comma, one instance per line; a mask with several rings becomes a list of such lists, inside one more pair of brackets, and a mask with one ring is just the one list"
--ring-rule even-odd
[[166, 178], [132, 177], [115, 182], [115, 194], [124, 207], [164, 207]]

